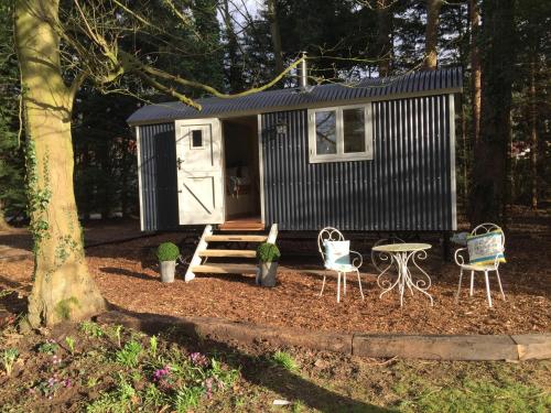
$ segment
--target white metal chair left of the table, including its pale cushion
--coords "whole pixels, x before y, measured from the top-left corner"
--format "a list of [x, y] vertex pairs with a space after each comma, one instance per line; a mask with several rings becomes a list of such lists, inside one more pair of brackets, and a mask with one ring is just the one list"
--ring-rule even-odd
[[[361, 300], [364, 300], [361, 279], [359, 276], [359, 268], [364, 263], [364, 260], [359, 252], [352, 251], [349, 247], [350, 241], [346, 241], [336, 228], [326, 227], [317, 236], [317, 249], [322, 256], [325, 269], [336, 271], [337, 273], [337, 303], [341, 302], [341, 275], [343, 276], [343, 293], [346, 295], [346, 274], [348, 272], [355, 272], [358, 276], [359, 293], [361, 294]], [[355, 256], [352, 261], [350, 254]], [[323, 295], [325, 278], [326, 275], [324, 274], [320, 296]]]

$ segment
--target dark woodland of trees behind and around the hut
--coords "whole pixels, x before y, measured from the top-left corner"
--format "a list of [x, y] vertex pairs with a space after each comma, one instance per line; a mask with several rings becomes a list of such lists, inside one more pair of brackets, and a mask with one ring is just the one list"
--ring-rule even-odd
[[[162, 2], [134, 1], [150, 22], [170, 30], [126, 33], [125, 48], [168, 73], [228, 94], [269, 81], [302, 51], [309, 53], [311, 84], [462, 66], [464, 94], [456, 119], [460, 207], [469, 213], [466, 206], [489, 196], [504, 221], [509, 205], [548, 205], [550, 1], [173, 2], [185, 13], [186, 24], [170, 8], [158, 7]], [[71, 1], [62, 1], [62, 10], [71, 7]], [[12, 2], [0, 4], [0, 217], [24, 224], [25, 133], [20, 127], [22, 91], [12, 13]], [[290, 76], [277, 87], [295, 84]], [[177, 88], [193, 98], [204, 95]], [[83, 85], [73, 110], [74, 183], [82, 219], [138, 214], [136, 139], [126, 119], [144, 102], [165, 100], [174, 99], [132, 75], [109, 88]], [[496, 108], [505, 121], [495, 124], [483, 116], [480, 122], [484, 105]], [[493, 157], [499, 162], [490, 162]], [[477, 188], [491, 175], [503, 182], [497, 195]]]

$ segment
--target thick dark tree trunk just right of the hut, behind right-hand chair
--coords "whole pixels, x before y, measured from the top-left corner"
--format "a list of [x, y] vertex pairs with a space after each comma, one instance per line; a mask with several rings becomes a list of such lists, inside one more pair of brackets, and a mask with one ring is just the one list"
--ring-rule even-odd
[[515, 53], [514, 0], [483, 3], [480, 138], [475, 148], [471, 185], [471, 224], [501, 221], [507, 177], [511, 84]]

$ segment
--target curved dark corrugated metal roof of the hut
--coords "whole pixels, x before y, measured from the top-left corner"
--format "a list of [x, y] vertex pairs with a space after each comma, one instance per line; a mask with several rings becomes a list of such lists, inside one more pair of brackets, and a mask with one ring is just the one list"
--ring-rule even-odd
[[278, 110], [309, 108], [320, 105], [336, 105], [392, 98], [403, 95], [461, 91], [463, 77], [461, 67], [413, 72], [402, 76], [366, 78], [356, 84], [329, 84], [313, 86], [309, 91], [299, 89], [267, 90], [239, 98], [197, 99], [203, 109], [196, 110], [180, 101], [148, 105], [128, 118], [130, 124], [156, 123], [175, 119], [223, 118], [240, 113], [261, 113]]

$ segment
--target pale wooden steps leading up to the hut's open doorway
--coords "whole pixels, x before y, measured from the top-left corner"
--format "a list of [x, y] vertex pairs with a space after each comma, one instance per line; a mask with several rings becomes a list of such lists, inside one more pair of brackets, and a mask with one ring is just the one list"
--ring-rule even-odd
[[[226, 229], [227, 231], [227, 229]], [[185, 282], [195, 278], [196, 273], [210, 274], [256, 274], [258, 282], [258, 265], [256, 261], [256, 249], [209, 249], [209, 242], [271, 242], [276, 243], [278, 238], [278, 225], [272, 224], [268, 235], [248, 233], [214, 233], [213, 226], [207, 225], [201, 236], [197, 249], [185, 273]], [[207, 263], [209, 258], [244, 259], [245, 263]]]

